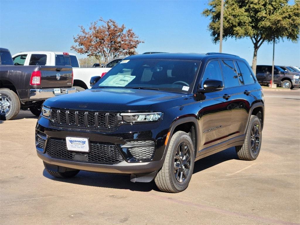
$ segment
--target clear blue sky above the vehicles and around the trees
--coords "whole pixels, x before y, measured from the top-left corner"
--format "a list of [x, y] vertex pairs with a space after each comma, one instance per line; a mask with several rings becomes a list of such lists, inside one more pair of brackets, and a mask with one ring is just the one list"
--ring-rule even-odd
[[[0, 0], [0, 45], [12, 54], [20, 51], [72, 52], [78, 25], [103, 17], [132, 28], [145, 41], [137, 52], [218, 52], [207, 30], [209, 19], [199, 1], [5, 1]], [[250, 39], [223, 42], [223, 52], [239, 55], [252, 64]], [[74, 52], [76, 53], [76, 52]], [[78, 58], [84, 55], [77, 54]], [[258, 51], [258, 64], [272, 63], [272, 45]], [[300, 43], [280, 41], [275, 64], [300, 66]]]

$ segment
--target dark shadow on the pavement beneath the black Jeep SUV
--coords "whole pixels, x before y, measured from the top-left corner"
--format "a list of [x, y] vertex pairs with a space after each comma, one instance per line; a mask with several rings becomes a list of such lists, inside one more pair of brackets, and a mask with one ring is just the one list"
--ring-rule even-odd
[[[234, 147], [196, 161], [193, 174], [232, 159], [238, 159]], [[160, 191], [156, 187], [154, 181], [150, 183], [139, 183], [139, 182], [133, 183], [130, 181], [129, 175], [80, 171], [73, 178], [63, 179], [63, 178], [55, 178], [51, 176], [49, 173], [47, 173], [46, 170], [44, 170], [43, 176], [48, 179], [59, 181], [59, 182], [66, 182], [66, 183], [80, 184], [80, 185], [87, 185], [87, 186], [94, 186], [94, 187], [128, 189], [132, 191], [141, 191], [141, 192], [148, 192], [151, 190]]]

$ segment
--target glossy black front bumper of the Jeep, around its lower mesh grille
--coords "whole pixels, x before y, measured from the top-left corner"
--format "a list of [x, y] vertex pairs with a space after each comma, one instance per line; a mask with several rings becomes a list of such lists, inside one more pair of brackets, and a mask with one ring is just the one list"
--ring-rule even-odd
[[[149, 174], [159, 170], [164, 163], [167, 131], [162, 132], [162, 124], [160, 122], [151, 124], [120, 125], [115, 130], [100, 131], [97, 129], [78, 129], [55, 126], [49, 119], [40, 117], [36, 126], [36, 136], [38, 132], [46, 134], [46, 140], [43, 149], [36, 145], [38, 157], [44, 162], [58, 167], [72, 168], [76, 170], [95, 171], [103, 173], [122, 173], [122, 174]], [[52, 153], [47, 153], [49, 139], [62, 139], [66, 137], [82, 137], [88, 138], [92, 143], [107, 143], [117, 146], [119, 153], [123, 157], [123, 161], [115, 164], [102, 164], [98, 162], [76, 161], [74, 159], [67, 160], [64, 158], [55, 158]], [[130, 148], [132, 141], [153, 141], [155, 150], [151, 159], [135, 160], [131, 155]], [[57, 147], [58, 148], [58, 147]]]

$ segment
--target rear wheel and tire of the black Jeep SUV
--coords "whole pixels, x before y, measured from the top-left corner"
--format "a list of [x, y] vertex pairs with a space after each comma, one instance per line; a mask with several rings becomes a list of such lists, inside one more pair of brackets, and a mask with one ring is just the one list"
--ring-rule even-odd
[[235, 146], [238, 158], [241, 160], [255, 160], [260, 152], [262, 143], [261, 123], [257, 116], [251, 115], [245, 142], [243, 145]]

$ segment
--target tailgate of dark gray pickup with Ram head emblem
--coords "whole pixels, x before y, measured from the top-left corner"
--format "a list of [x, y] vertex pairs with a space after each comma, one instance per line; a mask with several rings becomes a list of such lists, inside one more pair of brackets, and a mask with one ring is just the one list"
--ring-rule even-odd
[[72, 67], [41, 66], [41, 88], [72, 87]]

